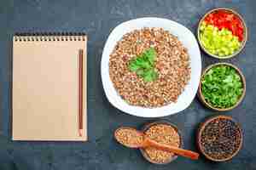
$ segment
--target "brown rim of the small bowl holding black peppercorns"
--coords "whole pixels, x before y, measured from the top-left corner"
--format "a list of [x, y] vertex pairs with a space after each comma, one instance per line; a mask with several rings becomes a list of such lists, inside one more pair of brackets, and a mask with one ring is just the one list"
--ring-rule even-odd
[[[237, 148], [237, 150], [229, 157], [227, 158], [224, 158], [224, 159], [215, 159], [215, 158], [212, 158], [211, 156], [208, 156], [207, 153], [204, 152], [204, 150], [202, 149], [203, 146], [201, 145], [201, 133], [202, 131], [205, 129], [205, 127], [207, 126], [208, 123], [212, 122], [213, 120], [215, 119], [218, 119], [218, 118], [224, 118], [224, 119], [228, 119], [228, 120], [231, 120], [232, 122], [235, 122], [236, 123], [236, 126], [238, 127], [239, 129], [239, 133], [241, 134], [240, 137], [241, 137], [241, 142], [239, 144], [239, 147]], [[202, 122], [198, 131], [197, 131], [197, 138], [196, 138], [196, 144], [197, 144], [197, 147], [198, 149], [201, 151], [201, 153], [207, 157], [207, 159], [211, 160], [211, 161], [229, 161], [230, 159], [232, 159], [234, 156], [237, 155], [237, 153], [239, 152], [239, 150], [241, 150], [241, 146], [242, 146], [242, 140], [243, 140], [243, 137], [242, 137], [242, 130], [241, 130], [241, 126], [238, 122], [236, 122], [232, 117], [230, 116], [224, 116], [224, 115], [219, 115], [219, 116], [212, 116], [210, 118], [207, 119], [206, 122]]]

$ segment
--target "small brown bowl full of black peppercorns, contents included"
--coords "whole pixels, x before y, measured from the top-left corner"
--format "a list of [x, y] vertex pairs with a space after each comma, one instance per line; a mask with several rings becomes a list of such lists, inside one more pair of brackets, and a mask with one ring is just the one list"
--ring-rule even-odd
[[212, 161], [231, 159], [241, 149], [241, 143], [241, 128], [230, 116], [212, 117], [199, 130], [199, 149]]

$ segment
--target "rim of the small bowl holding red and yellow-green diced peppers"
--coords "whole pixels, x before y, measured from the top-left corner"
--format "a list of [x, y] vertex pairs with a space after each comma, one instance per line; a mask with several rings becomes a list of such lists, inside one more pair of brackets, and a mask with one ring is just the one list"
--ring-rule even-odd
[[[203, 44], [201, 43], [201, 39], [200, 39], [200, 26], [201, 26], [202, 22], [205, 20], [205, 18], [207, 17], [208, 14], [212, 14], [213, 12], [216, 12], [216, 11], [218, 11], [218, 10], [224, 10], [224, 11], [230, 12], [231, 14], [236, 14], [236, 16], [241, 20], [241, 23], [242, 23], [243, 29], [244, 29], [244, 31], [243, 31], [243, 40], [242, 40], [242, 42], [241, 42], [241, 47], [240, 47], [238, 50], [236, 50], [235, 53], [230, 54], [230, 55], [227, 55], [227, 56], [223, 56], [223, 57], [220, 57], [220, 56], [218, 56], [218, 55], [216, 55], [216, 54], [211, 54], [211, 53], [209, 53], [209, 52], [207, 51], [207, 48], [205, 48], [205, 47], [203, 46]], [[241, 52], [241, 50], [245, 47], [245, 44], [246, 44], [246, 42], [247, 42], [247, 26], [246, 26], [245, 21], [242, 19], [241, 14], [238, 14], [235, 10], [230, 9], [230, 8], [213, 8], [212, 10], [210, 10], [209, 12], [207, 12], [207, 14], [205, 14], [205, 15], [201, 18], [201, 20], [199, 21], [199, 24], [198, 24], [198, 27], [197, 27], [197, 39], [198, 39], [198, 42], [199, 42], [201, 48], [202, 48], [202, 49], [204, 50], [204, 52], [206, 52], [208, 55], [210, 55], [210, 56], [212, 56], [212, 57], [214, 57], [214, 58], [217, 58], [217, 59], [230, 59], [230, 58], [232, 58], [232, 57], [235, 57], [237, 54], [239, 54], [239, 53]]]

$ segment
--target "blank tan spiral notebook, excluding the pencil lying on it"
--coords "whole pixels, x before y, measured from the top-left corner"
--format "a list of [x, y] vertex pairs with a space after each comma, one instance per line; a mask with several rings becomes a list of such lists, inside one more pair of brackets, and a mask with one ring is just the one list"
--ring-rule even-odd
[[[87, 140], [84, 35], [13, 40], [13, 140]], [[79, 136], [79, 49], [84, 49], [83, 134]]]

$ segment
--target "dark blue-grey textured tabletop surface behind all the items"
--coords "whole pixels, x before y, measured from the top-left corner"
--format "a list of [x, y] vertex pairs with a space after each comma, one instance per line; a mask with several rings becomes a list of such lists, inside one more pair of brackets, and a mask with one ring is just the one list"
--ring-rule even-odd
[[[143, 16], [175, 20], [195, 32], [198, 20], [209, 9], [234, 8], [248, 26], [245, 50], [234, 59], [247, 78], [247, 95], [234, 111], [244, 132], [242, 150], [232, 161], [214, 163], [201, 158], [157, 166], [145, 161], [139, 151], [126, 149], [113, 140], [113, 130], [121, 125], [140, 127], [157, 120], [129, 116], [116, 110], [106, 99], [100, 76], [102, 48], [109, 32], [125, 20]], [[256, 169], [256, 1], [254, 0], [0, 0], [0, 170], [80, 170], [80, 169]], [[15, 31], [85, 31], [88, 42], [88, 129], [89, 142], [13, 142], [10, 134], [11, 42]], [[203, 66], [218, 62], [202, 54]], [[254, 75], [254, 76], [253, 76]], [[183, 133], [184, 146], [195, 150], [195, 129], [207, 116], [198, 99], [188, 109], [164, 118]]]

